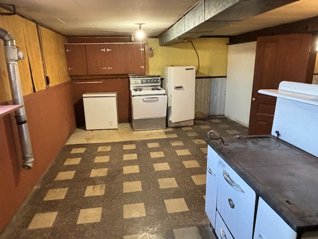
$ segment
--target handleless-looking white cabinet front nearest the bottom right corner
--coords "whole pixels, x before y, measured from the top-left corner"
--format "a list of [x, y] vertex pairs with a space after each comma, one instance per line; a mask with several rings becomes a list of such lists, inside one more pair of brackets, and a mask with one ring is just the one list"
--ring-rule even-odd
[[253, 239], [296, 239], [294, 232], [262, 198], [259, 198]]

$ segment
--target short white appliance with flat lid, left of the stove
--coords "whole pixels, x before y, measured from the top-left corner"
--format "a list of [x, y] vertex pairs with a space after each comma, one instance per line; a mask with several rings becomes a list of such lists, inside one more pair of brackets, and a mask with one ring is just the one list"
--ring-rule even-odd
[[118, 128], [117, 92], [88, 92], [82, 96], [86, 130]]

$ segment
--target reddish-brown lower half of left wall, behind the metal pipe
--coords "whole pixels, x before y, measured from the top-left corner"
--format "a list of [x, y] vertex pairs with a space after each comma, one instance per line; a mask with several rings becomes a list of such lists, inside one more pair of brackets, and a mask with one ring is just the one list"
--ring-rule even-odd
[[66, 82], [24, 97], [34, 155], [22, 169], [13, 113], [0, 118], [0, 232], [76, 128], [72, 84]]

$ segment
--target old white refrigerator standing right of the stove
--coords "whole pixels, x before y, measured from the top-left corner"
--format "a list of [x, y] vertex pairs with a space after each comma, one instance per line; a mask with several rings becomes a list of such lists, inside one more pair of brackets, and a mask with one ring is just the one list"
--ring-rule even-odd
[[193, 125], [195, 66], [164, 67], [163, 88], [168, 95], [168, 126]]

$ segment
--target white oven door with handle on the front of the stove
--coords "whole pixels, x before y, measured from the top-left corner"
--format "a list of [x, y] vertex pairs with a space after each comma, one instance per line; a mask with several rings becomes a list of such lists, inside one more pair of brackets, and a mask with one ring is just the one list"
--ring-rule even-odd
[[165, 117], [166, 95], [134, 96], [132, 98], [133, 119]]

